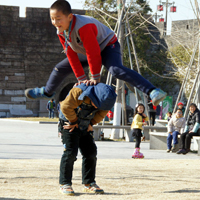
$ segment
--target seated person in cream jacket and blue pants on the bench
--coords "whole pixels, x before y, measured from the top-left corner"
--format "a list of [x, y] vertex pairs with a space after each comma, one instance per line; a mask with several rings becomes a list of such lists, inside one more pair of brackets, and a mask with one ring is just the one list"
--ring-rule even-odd
[[[167, 153], [170, 151], [177, 151], [178, 138], [177, 136], [180, 133], [183, 133], [185, 127], [185, 118], [183, 117], [183, 112], [181, 109], [178, 109], [175, 115], [168, 122], [168, 137], [167, 137]], [[172, 146], [173, 139], [173, 146]]]

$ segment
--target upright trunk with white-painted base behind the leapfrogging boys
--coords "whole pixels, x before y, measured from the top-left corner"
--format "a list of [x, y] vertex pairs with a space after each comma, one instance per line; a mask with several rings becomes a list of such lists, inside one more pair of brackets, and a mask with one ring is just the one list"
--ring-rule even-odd
[[[124, 28], [122, 26], [122, 2], [121, 0], [117, 0], [117, 8], [118, 8], [118, 41], [121, 46], [121, 52], [123, 52], [123, 36], [124, 36]], [[122, 54], [121, 54], [122, 55]], [[122, 56], [123, 57], [123, 56]], [[121, 124], [121, 110], [122, 110], [122, 84], [123, 81], [117, 79], [116, 83], [116, 93], [117, 99], [114, 106], [114, 116], [113, 116], [113, 125], [120, 126]], [[119, 139], [120, 129], [112, 129], [111, 139]]]

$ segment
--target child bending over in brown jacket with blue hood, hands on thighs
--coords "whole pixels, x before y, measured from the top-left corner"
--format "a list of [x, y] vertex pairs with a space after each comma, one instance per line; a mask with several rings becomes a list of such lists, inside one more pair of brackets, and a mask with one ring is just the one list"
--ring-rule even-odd
[[[72, 88], [61, 102], [60, 131], [64, 152], [60, 162], [60, 192], [74, 195], [72, 171], [78, 148], [82, 154], [82, 183], [84, 192], [104, 193], [95, 182], [97, 147], [93, 138], [93, 125], [100, 122], [114, 106], [115, 91], [111, 86], [98, 83]], [[78, 108], [78, 110], [77, 110]]]

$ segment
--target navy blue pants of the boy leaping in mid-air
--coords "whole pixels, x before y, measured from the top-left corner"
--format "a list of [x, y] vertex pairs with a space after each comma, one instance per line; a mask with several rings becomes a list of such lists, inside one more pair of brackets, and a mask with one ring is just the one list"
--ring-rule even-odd
[[[83, 68], [88, 67], [87, 57], [82, 54], [78, 54], [78, 57]], [[122, 65], [120, 45], [118, 41], [113, 45], [105, 47], [101, 52], [101, 57], [102, 64], [113, 75], [113, 77], [130, 83], [146, 94], [155, 89], [155, 86], [136, 71]], [[72, 68], [69, 64], [68, 58], [65, 58], [53, 69], [49, 80], [46, 83], [45, 92], [52, 94], [69, 73], [72, 73]]]

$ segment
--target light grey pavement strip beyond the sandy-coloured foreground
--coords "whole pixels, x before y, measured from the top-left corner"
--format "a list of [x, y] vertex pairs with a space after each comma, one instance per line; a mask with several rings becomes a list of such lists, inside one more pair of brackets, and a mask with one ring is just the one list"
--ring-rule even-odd
[[[110, 131], [104, 132], [108, 137]], [[96, 141], [96, 145], [99, 159], [129, 159], [135, 143]], [[62, 150], [57, 124], [0, 119], [0, 159], [60, 159]], [[150, 150], [148, 141], [141, 143], [141, 152], [145, 159], [200, 159], [193, 153], [177, 155]]]

